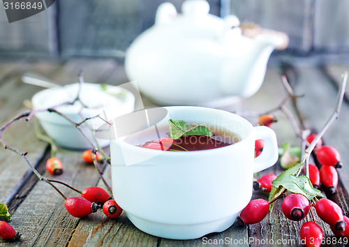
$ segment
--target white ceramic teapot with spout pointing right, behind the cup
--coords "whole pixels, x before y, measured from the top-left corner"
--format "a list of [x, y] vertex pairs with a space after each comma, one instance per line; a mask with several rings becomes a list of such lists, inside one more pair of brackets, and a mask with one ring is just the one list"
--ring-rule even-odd
[[239, 20], [209, 14], [204, 0], [187, 0], [177, 14], [162, 3], [155, 24], [126, 52], [125, 69], [144, 95], [161, 105], [202, 105], [260, 88], [267, 61], [283, 38], [242, 35]]

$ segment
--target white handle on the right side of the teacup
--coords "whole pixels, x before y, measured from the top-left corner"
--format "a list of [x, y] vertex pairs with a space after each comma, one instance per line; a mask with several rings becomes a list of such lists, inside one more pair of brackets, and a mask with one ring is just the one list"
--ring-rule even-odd
[[267, 126], [256, 126], [255, 140], [264, 140], [263, 151], [255, 158], [253, 173], [265, 170], [276, 163], [279, 157], [278, 144], [274, 130]]

